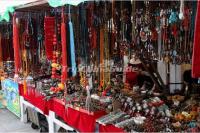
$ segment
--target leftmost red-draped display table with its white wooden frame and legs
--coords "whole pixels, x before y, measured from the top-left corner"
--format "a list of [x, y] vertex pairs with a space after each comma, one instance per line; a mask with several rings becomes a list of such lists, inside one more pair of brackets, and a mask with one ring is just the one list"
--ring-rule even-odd
[[20, 86], [20, 105], [21, 105], [21, 121], [26, 122], [26, 111], [25, 107], [31, 107], [37, 112], [46, 116], [48, 125], [49, 125], [49, 133], [56, 132], [59, 127], [63, 127], [66, 130], [73, 131], [74, 129], [67, 124], [61, 122], [56, 118], [55, 112], [50, 111], [52, 100], [45, 100], [44, 96], [42, 96], [36, 89], [29, 87], [27, 93], [24, 93], [23, 85]]

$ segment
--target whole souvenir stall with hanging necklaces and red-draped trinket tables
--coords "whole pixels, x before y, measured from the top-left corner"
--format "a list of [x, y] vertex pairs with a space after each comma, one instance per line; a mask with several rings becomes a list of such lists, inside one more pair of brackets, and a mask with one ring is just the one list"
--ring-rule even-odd
[[13, 31], [14, 51], [5, 52], [13, 55], [0, 57], [14, 58], [4, 77], [19, 86], [21, 120], [34, 108], [49, 132], [199, 131], [199, 8], [183, 0], [16, 7], [0, 34]]

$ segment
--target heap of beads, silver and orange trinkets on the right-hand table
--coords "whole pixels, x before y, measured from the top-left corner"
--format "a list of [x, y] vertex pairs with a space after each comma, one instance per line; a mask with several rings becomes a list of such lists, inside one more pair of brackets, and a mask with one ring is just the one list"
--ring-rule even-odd
[[128, 102], [125, 102], [121, 109], [102, 116], [97, 119], [97, 122], [104, 126], [112, 124], [127, 132], [200, 131], [197, 99], [180, 101], [178, 107], [170, 104], [166, 105], [164, 101], [157, 97], [142, 100], [142, 104], [134, 104], [130, 97], [126, 101]]

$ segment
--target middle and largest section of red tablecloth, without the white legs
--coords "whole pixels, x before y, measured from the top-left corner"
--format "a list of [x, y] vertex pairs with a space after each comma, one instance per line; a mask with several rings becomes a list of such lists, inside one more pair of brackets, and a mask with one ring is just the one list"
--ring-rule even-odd
[[104, 111], [91, 115], [71, 107], [65, 108], [64, 103], [58, 99], [53, 99], [51, 110], [60, 116], [69, 126], [80, 132], [94, 132], [96, 119], [105, 115]]

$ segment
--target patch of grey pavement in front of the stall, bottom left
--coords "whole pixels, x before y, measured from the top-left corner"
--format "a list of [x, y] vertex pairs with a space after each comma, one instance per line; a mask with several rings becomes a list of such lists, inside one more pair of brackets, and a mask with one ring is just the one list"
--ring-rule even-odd
[[10, 111], [0, 109], [0, 133], [8, 132], [38, 133], [38, 130], [33, 130], [30, 123], [20, 122], [20, 119]]

